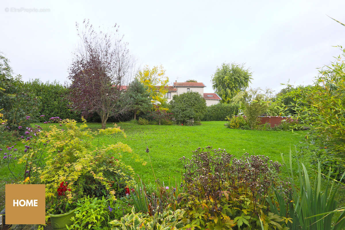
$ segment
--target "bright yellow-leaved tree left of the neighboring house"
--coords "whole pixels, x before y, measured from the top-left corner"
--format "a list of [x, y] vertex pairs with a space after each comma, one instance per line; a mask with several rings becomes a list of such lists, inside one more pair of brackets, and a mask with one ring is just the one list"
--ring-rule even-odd
[[164, 104], [166, 102], [167, 99], [164, 96], [168, 92], [169, 78], [165, 76], [163, 66], [154, 66], [152, 69], [145, 66], [138, 72], [137, 78], [147, 87], [152, 103]]

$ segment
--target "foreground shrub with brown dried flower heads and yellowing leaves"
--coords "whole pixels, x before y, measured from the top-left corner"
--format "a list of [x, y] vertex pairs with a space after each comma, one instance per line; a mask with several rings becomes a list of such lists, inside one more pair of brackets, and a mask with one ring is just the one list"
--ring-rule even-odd
[[[244, 154], [236, 159], [223, 149], [198, 148], [183, 163], [183, 187], [190, 225], [201, 229], [282, 229], [283, 218], [269, 212], [273, 185], [284, 188], [281, 164]], [[287, 188], [286, 188], [287, 189]], [[196, 218], [197, 217], [197, 218]]]

